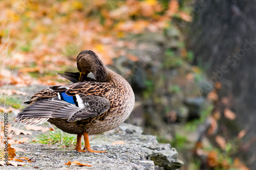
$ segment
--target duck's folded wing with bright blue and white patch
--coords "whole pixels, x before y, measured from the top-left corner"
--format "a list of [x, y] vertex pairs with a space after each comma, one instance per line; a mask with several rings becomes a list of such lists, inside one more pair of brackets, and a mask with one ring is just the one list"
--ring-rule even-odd
[[[110, 102], [103, 96], [95, 95], [98, 92], [92, 95], [93, 92], [89, 88], [92, 87], [92, 84], [94, 83], [84, 82], [52, 86], [50, 89], [57, 93], [58, 97], [46, 98], [33, 103], [18, 113], [16, 120], [25, 125], [38, 125], [46, 122], [49, 118], [63, 118], [67, 119], [67, 122], [76, 122], [84, 118], [99, 116], [109, 110]], [[102, 85], [101, 82], [97, 82], [97, 86], [99, 84]], [[87, 90], [80, 89], [82, 86], [87, 87]], [[94, 88], [97, 89], [95, 86]], [[73, 92], [73, 95], [68, 95], [68, 90]], [[89, 93], [85, 94], [79, 91], [88, 91]]]

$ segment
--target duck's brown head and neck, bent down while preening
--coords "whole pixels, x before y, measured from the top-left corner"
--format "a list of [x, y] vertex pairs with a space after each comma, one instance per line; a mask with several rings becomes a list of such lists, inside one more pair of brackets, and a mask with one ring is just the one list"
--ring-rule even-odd
[[84, 50], [77, 56], [77, 69], [80, 72], [79, 81], [85, 80], [87, 75], [92, 72], [99, 82], [108, 79], [108, 68], [102, 60], [91, 50]]

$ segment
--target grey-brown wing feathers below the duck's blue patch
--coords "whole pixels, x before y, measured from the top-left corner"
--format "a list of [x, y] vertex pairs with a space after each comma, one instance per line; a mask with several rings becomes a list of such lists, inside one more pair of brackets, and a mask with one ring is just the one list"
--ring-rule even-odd
[[38, 125], [42, 122], [46, 122], [49, 118], [62, 118], [68, 119], [68, 122], [74, 122], [78, 119], [101, 115], [110, 108], [110, 102], [100, 96], [80, 94], [69, 97], [72, 99], [73, 97], [79, 99], [80, 107], [64, 100], [60, 100], [56, 96], [54, 98], [38, 101], [37, 103], [28, 106], [17, 115], [16, 119], [18, 122], [23, 122], [26, 125]]

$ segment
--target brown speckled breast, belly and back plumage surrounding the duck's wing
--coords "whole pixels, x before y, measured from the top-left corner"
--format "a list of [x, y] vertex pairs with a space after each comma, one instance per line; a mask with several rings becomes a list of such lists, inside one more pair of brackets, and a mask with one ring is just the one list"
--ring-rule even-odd
[[111, 78], [107, 82], [77, 83], [66, 91], [72, 96], [78, 93], [101, 96], [110, 102], [108, 111], [74, 123], [67, 123], [65, 119], [60, 118], [50, 118], [48, 121], [67, 133], [87, 132], [89, 135], [103, 133], [122, 124], [133, 109], [134, 94], [129, 83], [114, 71], [110, 70], [110, 72]]

